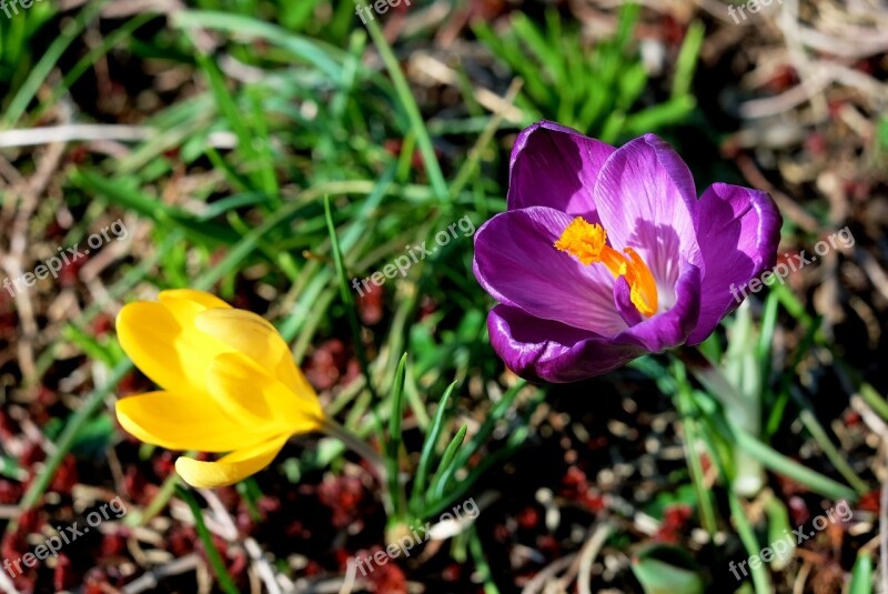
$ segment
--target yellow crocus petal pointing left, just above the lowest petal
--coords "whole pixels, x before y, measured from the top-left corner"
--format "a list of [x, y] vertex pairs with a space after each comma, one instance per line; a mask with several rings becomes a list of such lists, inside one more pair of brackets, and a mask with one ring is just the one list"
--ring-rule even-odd
[[115, 410], [129, 433], [169, 450], [231, 452], [269, 437], [262, 427], [235, 422], [205, 397], [149, 392], [119, 400]]

